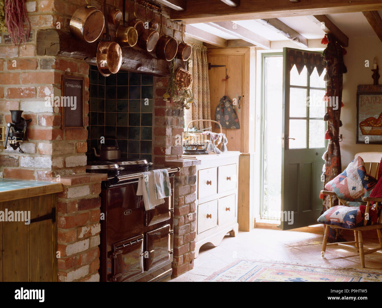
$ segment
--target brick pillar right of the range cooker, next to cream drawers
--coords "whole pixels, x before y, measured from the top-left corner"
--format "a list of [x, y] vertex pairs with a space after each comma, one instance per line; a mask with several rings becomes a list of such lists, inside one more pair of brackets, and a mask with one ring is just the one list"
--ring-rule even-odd
[[196, 237], [196, 165], [199, 160], [183, 160], [181, 146], [184, 112], [163, 101], [167, 77], [154, 78], [153, 162], [179, 167], [174, 188], [173, 277], [194, 267]]

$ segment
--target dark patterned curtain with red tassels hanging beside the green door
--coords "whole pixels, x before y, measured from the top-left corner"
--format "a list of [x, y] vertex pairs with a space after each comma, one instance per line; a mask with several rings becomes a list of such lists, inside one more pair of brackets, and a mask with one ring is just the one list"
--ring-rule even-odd
[[[322, 40], [323, 44], [327, 44], [324, 50], [324, 59], [327, 63], [325, 75], [325, 80], [327, 81], [327, 90], [324, 97], [324, 101], [330, 99], [335, 99], [338, 103], [338, 109], [334, 110], [328, 104], [327, 113], [325, 114], [324, 120], [327, 121], [328, 130], [325, 133], [325, 139], [329, 140], [327, 152], [325, 152], [323, 159], [325, 160], [325, 165], [323, 168], [322, 179], [324, 180], [324, 190], [325, 184], [331, 181], [333, 178], [337, 177], [341, 173], [341, 152], [340, 152], [340, 142], [339, 142], [339, 131], [342, 123], [340, 121], [341, 107], [342, 104], [342, 89], [343, 89], [343, 74], [347, 72], [346, 66], [343, 62], [343, 55], [346, 54], [346, 50], [343, 49], [335, 38], [326, 34]], [[321, 214], [329, 209], [329, 197], [320, 196], [323, 199], [323, 211]], [[336, 200], [337, 201], [337, 200]], [[338, 202], [338, 201], [337, 201]], [[345, 242], [343, 238], [342, 229], [332, 229], [330, 228], [328, 243], [333, 242]]]

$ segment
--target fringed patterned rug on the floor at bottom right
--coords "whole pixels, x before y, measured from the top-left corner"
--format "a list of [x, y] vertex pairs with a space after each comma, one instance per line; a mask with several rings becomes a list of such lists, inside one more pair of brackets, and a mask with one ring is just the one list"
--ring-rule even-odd
[[381, 280], [382, 272], [380, 271], [335, 269], [275, 261], [238, 260], [214, 272], [204, 281], [359, 282]]

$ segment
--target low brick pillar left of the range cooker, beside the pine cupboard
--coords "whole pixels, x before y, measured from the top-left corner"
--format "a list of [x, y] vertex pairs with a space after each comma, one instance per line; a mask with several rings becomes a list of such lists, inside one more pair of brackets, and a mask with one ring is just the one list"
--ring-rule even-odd
[[58, 281], [99, 281], [101, 181], [105, 174], [61, 178], [58, 193]]

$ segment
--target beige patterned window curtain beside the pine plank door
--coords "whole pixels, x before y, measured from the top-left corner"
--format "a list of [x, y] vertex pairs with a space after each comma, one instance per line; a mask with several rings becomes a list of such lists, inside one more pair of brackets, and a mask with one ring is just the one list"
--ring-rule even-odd
[[[193, 75], [194, 104], [189, 110], [185, 110], [185, 125], [191, 120], [211, 120], [210, 84], [208, 79], [207, 47], [193, 42], [189, 43], [193, 48], [189, 71]], [[211, 127], [211, 122], [194, 122], [190, 128], [197, 129]]]

